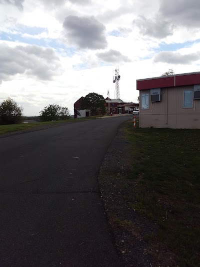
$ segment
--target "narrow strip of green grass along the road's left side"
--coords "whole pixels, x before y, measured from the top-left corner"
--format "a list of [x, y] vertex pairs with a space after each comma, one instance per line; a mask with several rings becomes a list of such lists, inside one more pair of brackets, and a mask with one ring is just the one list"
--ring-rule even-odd
[[60, 124], [60, 123], [71, 123], [78, 121], [86, 121], [99, 118], [99, 116], [91, 116], [79, 119], [69, 119], [63, 121], [50, 121], [50, 122], [34, 122], [34, 123], [19, 123], [19, 124], [9, 124], [9, 125], [0, 125], [0, 135], [10, 133], [10, 132], [18, 132], [21, 130], [27, 130], [31, 128], [37, 128], [39, 126], [50, 126], [52, 124]]

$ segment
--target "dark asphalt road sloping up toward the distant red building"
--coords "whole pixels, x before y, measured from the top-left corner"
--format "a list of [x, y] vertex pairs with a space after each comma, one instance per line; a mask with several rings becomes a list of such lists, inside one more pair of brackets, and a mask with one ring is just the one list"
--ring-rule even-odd
[[0, 138], [0, 266], [122, 266], [97, 174], [129, 118]]

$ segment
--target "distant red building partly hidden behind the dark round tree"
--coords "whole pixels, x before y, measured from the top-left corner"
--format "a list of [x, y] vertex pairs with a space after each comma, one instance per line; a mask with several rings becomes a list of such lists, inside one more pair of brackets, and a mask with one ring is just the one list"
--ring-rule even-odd
[[[81, 110], [80, 108], [82, 99], [83, 97], [80, 97], [74, 103], [74, 118], [83, 118], [90, 116], [90, 110]], [[111, 99], [108, 97], [105, 99], [105, 102], [107, 113], [112, 112], [112, 114], [131, 114], [133, 110], [138, 109], [139, 107], [138, 103], [123, 102], [121, 99]], [[78, 113], [80, 115], [78, 115]]]

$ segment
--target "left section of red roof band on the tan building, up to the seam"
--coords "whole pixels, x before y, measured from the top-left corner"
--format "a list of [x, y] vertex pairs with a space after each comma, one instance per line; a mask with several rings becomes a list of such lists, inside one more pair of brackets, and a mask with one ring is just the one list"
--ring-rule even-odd
[[137, 82], [137, 90], [172, 87], [173, 86], [173, 80], [174, 80], [174, 77], [166, 77], [166, 78], [136, 81]]

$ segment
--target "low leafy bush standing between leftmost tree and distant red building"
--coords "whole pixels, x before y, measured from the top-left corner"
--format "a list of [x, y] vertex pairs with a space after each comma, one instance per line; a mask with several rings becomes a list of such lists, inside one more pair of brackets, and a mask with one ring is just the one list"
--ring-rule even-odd
[[41, 121], [67, 120], [70, 118], [69, 110], [57, 104], [50, 104], [39, 112]]

